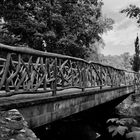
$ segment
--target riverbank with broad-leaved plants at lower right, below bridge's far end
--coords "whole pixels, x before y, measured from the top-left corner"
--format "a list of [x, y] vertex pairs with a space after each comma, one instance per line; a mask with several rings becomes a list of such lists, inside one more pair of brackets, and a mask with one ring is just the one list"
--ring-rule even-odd
[[116, 107], [118, 118], [107, 121], [112, 140], [140, 140], [140, 95], [131, 95]]

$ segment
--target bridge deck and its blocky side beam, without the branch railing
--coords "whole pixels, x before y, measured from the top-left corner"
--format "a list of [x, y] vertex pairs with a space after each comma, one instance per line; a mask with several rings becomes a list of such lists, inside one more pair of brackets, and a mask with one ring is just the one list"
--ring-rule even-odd
[[17, 94], [0, 98], [0, 110], [18, 109], [29, 127], [38, 127], [135, 92], [134, 86], [67, 89], [52, 93]]

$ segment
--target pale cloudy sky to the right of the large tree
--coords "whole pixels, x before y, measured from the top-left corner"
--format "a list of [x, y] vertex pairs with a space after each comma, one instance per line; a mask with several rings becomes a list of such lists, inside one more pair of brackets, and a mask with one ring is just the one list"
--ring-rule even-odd
[[103, 15], [115, 21], [113, 30], [103, 34], [105, 47], [101, 49], [104, 55], [120, 55], [125, 52], [134, 54], [134, 41], [137, 33], [140, 38], [140, 27], [135, 19], [129, 19], [119, 13], [121, 9], [135, 4], [140, 7], [140, 0], [103, 0]]

